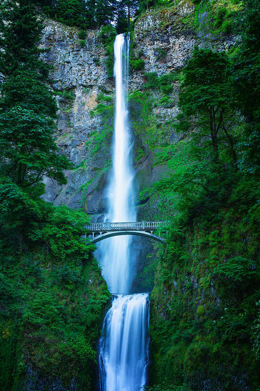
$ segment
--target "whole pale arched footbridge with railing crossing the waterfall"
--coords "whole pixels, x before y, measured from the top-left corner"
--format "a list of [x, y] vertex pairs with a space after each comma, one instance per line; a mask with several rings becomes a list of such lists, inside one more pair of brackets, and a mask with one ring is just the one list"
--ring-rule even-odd
[[[166, 232], [168, 225], [167, 221], [105, 222], [89, 224], [86, 229], [92, 234], [92, 243], [120, 235], [138, 235], [165, 243], [165, 239], [160, 237], [160, 231], [163, 229]], [[157, 230], [160, 231], [155, 235], [154, 231]]]

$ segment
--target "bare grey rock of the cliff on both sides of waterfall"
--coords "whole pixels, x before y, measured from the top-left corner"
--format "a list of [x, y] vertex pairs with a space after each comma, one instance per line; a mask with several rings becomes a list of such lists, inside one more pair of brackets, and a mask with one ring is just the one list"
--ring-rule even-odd
[[[144, 68], [131, 72], [130, 91], [141, 90], [145, 72], [156, 71], [161, 75], [180, 69], [196, 44], [223, 50], [234, 43], [232, 39], [205, 38], [191, 27], [192, 18], [194, 6], [189, 2], [183, 2], [178, 8], [148, 11], [139, 18], [134, 31], [134, 52], [139, 53]], [[55, 205], [83, 207], [89, 214], [100, 215], [106, 211], [103, 191], [111, 165], [113, 114], [104, 119], [102, 113], [93, 115], [91, 110], [97, 106], [99, 94], [110, 96], [112, 101], [114, 98], [114, 80], [107, 77], [100, 31], [88, 31], [81, 47], [76, 28], [46, 20], [41, 47], [46, 49], [42, 59], [53, 65], [50, 76], [59, 106], [58, 129], [54, 137], [60, 151], [74, 164], [74, 168], [66, 172], [66, 185], [57, 186], [51, 180], [46, 181], [44, 198]], [[175, 82], [170, 107], [153, 109], [160, 121], [176, 116], [178, 91], [179, 82]], [[176, 139], [174, 133], [171, 139]], [[157, 180], [164, 170], [162, 165], [154, 167], [153, 152], [147, 150], [145, 141], [139, 142], [145, 150], [145, 156], [136, 164], [141, 189]], [[149, 209], [146, 205], [145, 211]]]

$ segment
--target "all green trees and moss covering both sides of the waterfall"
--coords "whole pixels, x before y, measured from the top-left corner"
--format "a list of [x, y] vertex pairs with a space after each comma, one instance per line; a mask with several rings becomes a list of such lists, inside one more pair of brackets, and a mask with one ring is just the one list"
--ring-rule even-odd
[[[100, 36], [108, 76], [113, 70], [112, 2], [1, 4], [0, 388], [93, 389], [95, 344], [109, 293], [93, 245], [80, 239], [88, 217], [40, 198], [44, 177], [64, 184], [71, 164], [52, 138], [57, 107], [49, 65], [39, 58], [42, 25], [34, 6], [39, 3], [49, 16], [80, 27], [82, 41], [86, 28], [105, 24]], [[131, 12], [174, 3], [141, 1]], [[121, 2], [118, 9], [118, 31], [127, 29], [128, 5]], [[259, 2], [192, 5], [194, 12], [181, 23], [199, 30], [206, 13], [206, 32], [240, 32], [236, 47], [227, 53], [195, 48], [183, 70], [145, 73], [142, 90], [129, 95], [135, 163], [150, 150], [155, 166], [167, 166], [140, 197], [155, 201], [155, 218], [171, 220], [165, 252], [152, 265], [150, 390], [257, 391]], [[133, 71], [142, 70], [142, 55], [133, 50]], [[158, 59], [166, 55], [161, 50]], [[172, 91], [179, 84], [177, 121], [160, 122], [156, 108], [173, 107]], [[101, 144], [109, 149], [114, 110], [109, 95], [100, 94], [97, 103], [90, 114], [103, 116], [103, 130], [88, 140], [93, 154]]]

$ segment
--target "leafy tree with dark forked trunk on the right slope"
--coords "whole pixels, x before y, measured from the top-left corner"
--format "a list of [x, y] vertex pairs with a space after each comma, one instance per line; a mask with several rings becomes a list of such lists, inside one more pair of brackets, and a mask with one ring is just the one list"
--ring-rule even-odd
[[231, 104], [226, 54], [195, 48], [183, 75], [177, 129], [188, 130], [200, 144], [210, 141], [215, 163], [220, 159], [220, 143], [227, 143], [237, 169], [234, 141], [236, 111]]

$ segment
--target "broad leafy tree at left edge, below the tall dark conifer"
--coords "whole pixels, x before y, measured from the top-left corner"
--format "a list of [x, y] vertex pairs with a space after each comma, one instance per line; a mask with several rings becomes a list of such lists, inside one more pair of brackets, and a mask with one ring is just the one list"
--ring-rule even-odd
[[0, 174], [21, 187], [37, 184], [43, 176], [66, 183], [62, 170], [69, 167], [52, 138], [50, 117], [14, 106], [0, 113]]

